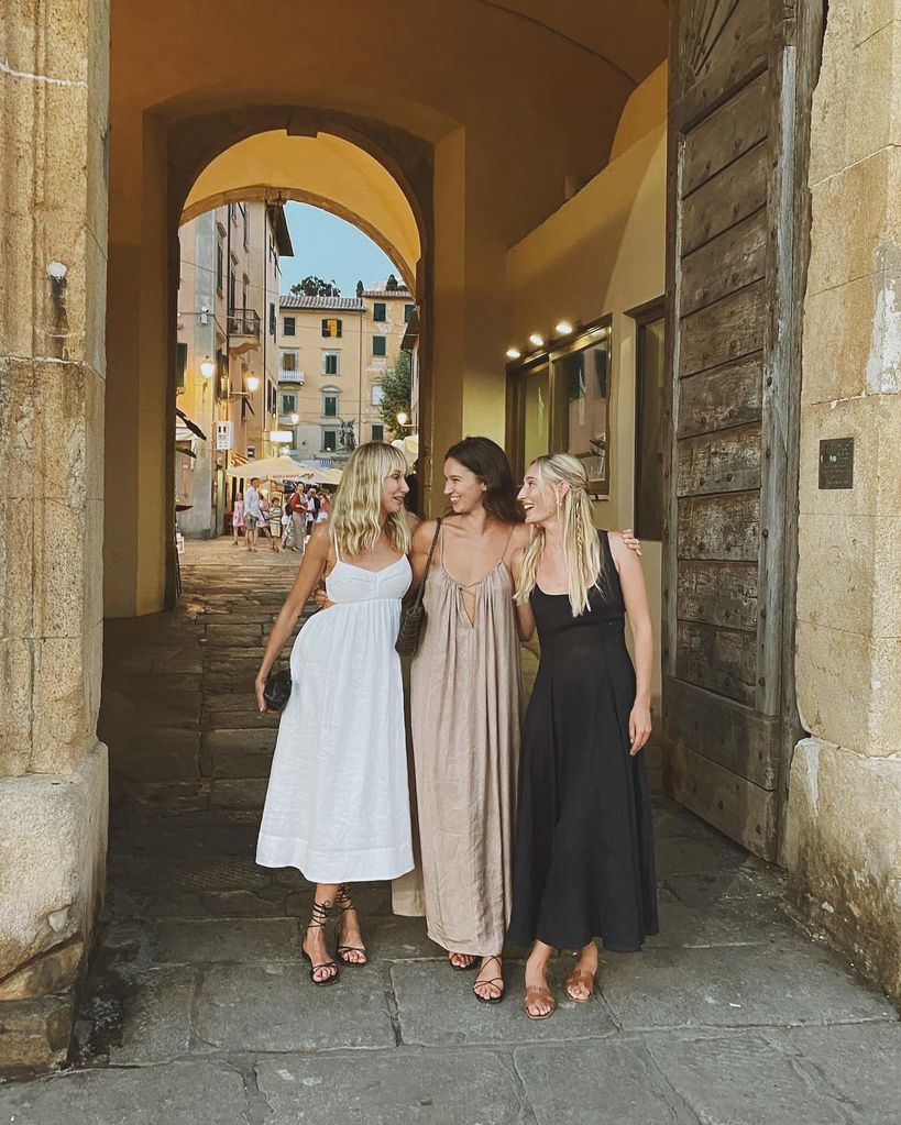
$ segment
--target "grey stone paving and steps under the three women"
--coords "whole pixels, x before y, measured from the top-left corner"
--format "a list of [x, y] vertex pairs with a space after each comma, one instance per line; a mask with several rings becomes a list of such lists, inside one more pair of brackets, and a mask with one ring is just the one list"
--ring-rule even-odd
[[[315, 989], [308, 889], [253, 862], [276, 722], [250, 694], [296, 555], [189, 548], [179, 611], [108, 624], [112, 825], [74, 1065], [0, 1086], [0, 1125], [898, 1125], [901, 1025], [811, 940], [780, 872], [657, 798], [660, 936], [551, 1019], [478, 1005], [363, 888], [371, 963]], [[571, 964], [553, 965], [559, 984]]]

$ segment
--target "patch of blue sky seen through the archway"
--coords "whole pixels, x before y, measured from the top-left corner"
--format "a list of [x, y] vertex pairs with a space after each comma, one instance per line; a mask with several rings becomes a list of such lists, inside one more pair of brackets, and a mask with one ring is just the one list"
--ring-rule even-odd
[[288, 230], [294, 243], [294, 258], [281, 260], [281, 290], [310, 273], [339, 285], [342, 297], [357, 296], [358, 279], [366, 286], [384, 281], [389, 273], [398, 278], [399, 270], [375, 242], [336, 215], [290, 202], [285, 207]]

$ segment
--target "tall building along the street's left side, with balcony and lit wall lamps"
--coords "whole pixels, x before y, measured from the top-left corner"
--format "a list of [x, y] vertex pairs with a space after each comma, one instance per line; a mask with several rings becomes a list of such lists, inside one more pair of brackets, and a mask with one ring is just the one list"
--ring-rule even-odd
[[292, 248], [283, 208], [258, 201], [198, 215], [179, 244], [175, 502], [182, 533], [207, 538], [224, 526], [225, 470], [274, 451], [280, 260]]

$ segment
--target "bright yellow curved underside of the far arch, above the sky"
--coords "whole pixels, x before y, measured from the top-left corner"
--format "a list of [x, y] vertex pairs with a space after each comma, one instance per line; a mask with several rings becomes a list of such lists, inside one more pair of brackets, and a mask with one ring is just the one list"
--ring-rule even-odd
[[378, 243], [415, 290], [422, 249], [413, 210], [382, 164], [349, 141], [276, 130], [247, 137], [207, 164], [182, 219], [233, 199], [300, 199], [340, 215]]

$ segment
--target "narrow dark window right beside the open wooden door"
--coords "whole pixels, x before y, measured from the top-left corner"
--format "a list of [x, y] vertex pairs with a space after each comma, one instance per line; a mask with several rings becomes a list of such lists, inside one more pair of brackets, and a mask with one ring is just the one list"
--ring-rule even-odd
[[638, 320], [636, 351], [636, 534], [664, 538], [664, 400], [666, 356], [663, 306]]

